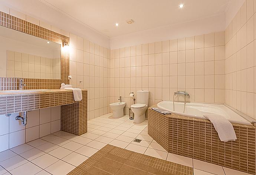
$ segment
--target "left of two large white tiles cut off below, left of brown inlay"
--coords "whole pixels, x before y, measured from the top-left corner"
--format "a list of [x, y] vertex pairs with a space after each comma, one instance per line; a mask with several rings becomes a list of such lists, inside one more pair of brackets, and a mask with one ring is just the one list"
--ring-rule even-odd
[[43, 169], [39, 168], [35, 164], [27, 162], [26, 164], [13, 169], [10, 173], [12, 173], [12, 175], [34, 175], [42, 170]]

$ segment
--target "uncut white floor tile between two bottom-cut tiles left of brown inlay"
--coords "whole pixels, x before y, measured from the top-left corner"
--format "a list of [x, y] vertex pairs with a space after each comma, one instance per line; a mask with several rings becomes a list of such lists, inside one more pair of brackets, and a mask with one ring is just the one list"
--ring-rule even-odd
[[45, 169], [46, 167], [54, 164], [57, 161], [59, 161], [59, 159], [57, 159], [56, 157], [53, 157], [52, 155], [49, 155], [49, 154], [44, 154], [44, 155], [32, 160], [31, 162], [33, 164], [36, 164], [40, 168]]

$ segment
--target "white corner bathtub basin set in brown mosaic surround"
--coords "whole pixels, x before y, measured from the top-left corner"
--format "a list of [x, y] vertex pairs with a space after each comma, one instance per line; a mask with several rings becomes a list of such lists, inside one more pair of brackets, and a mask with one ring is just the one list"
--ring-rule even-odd
[[203, 115], [205, 113], [216, 113], [224, 116], [231, 123], [238, 123], [244, 125], [252, 125], [248, 120], [229, 109], [227, 106], [222, 104], [208, 104], [208, 103], [193, 103], [186, 102], [185, 111], [184, 110], [184, 102], [174, 102], [174, 110], [173, 110], [173, 101], [162, 101], [157, 104], [158, 108], [167, 110], [171, 113], [175, 113], [178, 115], [194, 117], [199, 119], [206, 119]]

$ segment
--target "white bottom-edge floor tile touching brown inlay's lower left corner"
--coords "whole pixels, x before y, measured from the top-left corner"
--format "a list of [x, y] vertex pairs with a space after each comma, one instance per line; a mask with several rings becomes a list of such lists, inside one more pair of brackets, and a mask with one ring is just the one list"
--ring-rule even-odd
[[60, 160], [55, 164], [52, 164], [51, 166], [47, 167], [45, 170], [53, 175], [61, 175], [61, 174], [64, 175], [64, 174], [68, 174], [74, 168], [76, 167], [68, 164], [67, 162]]

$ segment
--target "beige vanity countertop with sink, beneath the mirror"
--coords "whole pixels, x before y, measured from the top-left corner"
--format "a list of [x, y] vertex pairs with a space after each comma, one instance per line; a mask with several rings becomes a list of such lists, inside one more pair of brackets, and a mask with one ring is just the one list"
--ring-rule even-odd
[[[86, 89], [82, 89], [82, 91], [86, 91]], [[66, 90], [66, 89], [1, 90], [0, 97], [21, 96], [21, 95], [41, 95], [41, 94], [49, 94], [49, 93], [63, 93], [63, 92], [72, 92], [72, 90]]]

